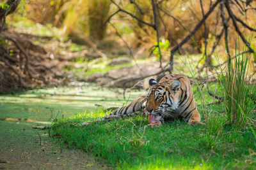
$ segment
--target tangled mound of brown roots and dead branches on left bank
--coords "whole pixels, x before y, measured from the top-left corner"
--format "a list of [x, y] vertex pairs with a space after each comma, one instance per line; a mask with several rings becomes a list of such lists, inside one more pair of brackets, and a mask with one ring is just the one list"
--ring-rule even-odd
[[[19, 33], [5, 29], [0, 38], [4, 40], [0, 46], [0, 93], [17, 87], [28, 89], [67, 82], [62, 66], [54, 64], [57, 61], [51, 62], [44, 48], [19, 39]], [[41, 50], [35, 52], [35, 49]]]

